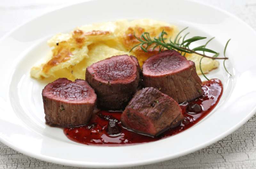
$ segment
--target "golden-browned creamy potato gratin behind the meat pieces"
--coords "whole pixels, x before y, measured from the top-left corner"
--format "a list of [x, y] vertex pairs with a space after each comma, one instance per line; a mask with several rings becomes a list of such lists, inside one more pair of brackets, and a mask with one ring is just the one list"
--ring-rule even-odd
[[[167, 39], [174, 38], [179, 32], [176, 26], [165, 22], [150, 19], [120, 20], [77, 27], [71, 33], [59, 33], [48, 40], [52, 48], [51, 53], [43, 63], [34, 66], [31, 77], [36, 79], [66, 77], [70, 80], [84, 79], [87, 66], [114, 55], [134, 55], [138, 58], [140, 66], [151, 55], [157, 54], [158, 49], [149, 50], [148, 53], [135, 48], [139, 43], [134, 37], [143, 32], [149, 32], [151, 37], [158, 36], [164, 30], [168, 33]], [[186, 54], [186, 58], [195, 62], [198, 74], [199, 61], [202, 56]], [[201, 63], [203, 72], [207, 73], [219, 66], [219, 62], [204, 58]]]

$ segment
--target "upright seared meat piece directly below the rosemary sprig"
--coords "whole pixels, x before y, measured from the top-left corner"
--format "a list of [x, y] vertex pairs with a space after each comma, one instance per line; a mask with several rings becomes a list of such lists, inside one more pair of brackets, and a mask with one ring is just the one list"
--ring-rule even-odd
[[178, 103], [204, 94], [195, 63], [175, 50], [166, 50], [149, 57], [142, 66], [143, 85], [154, 87]]

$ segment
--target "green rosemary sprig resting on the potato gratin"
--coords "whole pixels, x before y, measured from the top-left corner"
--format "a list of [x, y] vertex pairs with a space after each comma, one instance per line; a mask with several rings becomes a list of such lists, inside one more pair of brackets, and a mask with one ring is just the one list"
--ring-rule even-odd
[[[200, 59], [200, 62], [199, 62], [199, 67], [200, 67], [200, 71], [202, 73], [202, 75], [207, 79], [209, 80], [203, 70], [202, 70], [202, 67], [201, 67], [201, 61], [204, 57], [207, 57], [207, 58], [211, 58], [211, 59], [223, 59], [224, 62], [223, 62], [223, 65], [224, 65], [224, 68], [225, 70], [227, 71], [227, 73], [229, 75], [231, 75], [226, 66], [225, 66], [225, 61], [228, 59], [228, 57], [226, 57], [225, 55], [225, 52], [226, 52], [226, 48], [227, 48], [227, 45], [228, 45], [228, 42], [230, 41], [230, 39], [228, 40], [226, 46], [225, 46], [225, 49], [224, 49], [224, 56], [225, 57], [218, 57], [219, 56], [219, 53], [218, 52], [215, 52], [214, 50], [212, 49], [209, 49], [209, 48], [206, 48], [206, 45], [212, 40], [214, 39], [211, 38], [210, 40], [208, 40], [205, 45], [201, 45], [201, 46], [198, 46], [196, 48], [193, 48], [193, 49], [190, 49], [189, 46], [191, 45], [191, 43], [193, 42], [196, 42], [196, 41], [199, 41], [199, 40], [203, 40], [203, 39], [206, 39], [206, 37], [202, 37], [202, 36], [194, 36], [192, 38], [189, 38], [189, 39], [186, 39], [186, 36], [189, 34], [189, 33], [186, 33], [183, 38], [182, 36], [180, 36], [180, 33], [182, 33], [184, 30], [186, 30], [188, 27], [182, 29], [177, 35], [176, 37], [174, 38], [174, 40], [172, 41], [171, 38], [169, 39], [169, 42], [165, 42], [166, 38], [164, 38], [164, 35], [167, 35], [167, 33], [163, 30], [161, 33], [159, 33], [158, 37], [154, 37], [154, 38], [151, 38], [150, 37], [150, 34], [148, 32], [144, 32], [141, 34], [140, 38], [138, 38], [135, 33], [134, 33], [134, 37], [139, 40], [139, 44], [135, 45], [129, 52], [131, 52], [134, 48], [140, 46], [140, 48], [144, 51], [144, 52], [148, 52], [148, 48], [152, 48], [153, 50], [155, 48], [159, 48], [159, 52], [162, 52], [164, 51], [165, 49], [168, 49], [168, 50], [177, 50], [180, 52], [181, 55], [185, 56], [186, 53], [195, 53], [197, 55], [201, 55], [203, 56], [201, 59]], [[180, 37], [179, 37], [180, 36]], [[180, 43], [180, 40], [181, 40], [181, 43]], [[197, 51], [202, 51], [202, 53], [198, 53]], [[213, 56], [208, 56], [208, 55], [205, 55], [205, 52], [209, 52], [209, 53], [212, 53], [214, 54]]]

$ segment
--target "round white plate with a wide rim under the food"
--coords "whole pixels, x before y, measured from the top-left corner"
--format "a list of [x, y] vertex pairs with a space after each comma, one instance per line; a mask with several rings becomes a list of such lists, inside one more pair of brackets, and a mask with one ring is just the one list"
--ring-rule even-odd
[[[211, 48], [230, 57], [228, 77], [220, 68], [208, 77], [224, 84], [217, 107], [194, 127], [156, 142], [132, 146], [100, 147], [75, 143], [60, 128], [44, 123], [41, 91], [45, 84], [30, 78], [29, 70], [49, 48], [53, 34], [76, 26], [117, 19], [152, 18], [183, 28], [194, 35], [215, 36]], [[255, 112], [256, 33], [235, 16], [203, 4], [184, 0], [99, 0], [68, 6], [38, 17], [0, 41], [0, 137], [1, 142], [28, 156], [63, 165], [120, 167], [155, 163], [201, 149], [227, 136]]]

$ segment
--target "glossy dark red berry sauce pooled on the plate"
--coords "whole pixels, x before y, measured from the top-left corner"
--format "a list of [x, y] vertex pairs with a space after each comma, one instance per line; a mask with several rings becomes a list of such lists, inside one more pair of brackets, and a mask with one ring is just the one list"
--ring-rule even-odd
[[[207, 114], [209, 114], [219, 102], [222, 95], [222, 84], [219, 79], [212, 79], [210, 81], [203, 82], [202, 89], [204, 90], [203, 96], [193, 101], [180, 104], [180, 108], [182, 109], [182, 113], [184, 115], [184, 120], [182, 123], [178, 127], [165, 131], [158, 137], [141, 135], [123, 128], [120, 122], [122, 112], [109, 111], [100, 111], [97, 114], [94, 114], [91, 121], [87, 125], [74, 128], [65, 128], [64, 133], [70, 140], [75, 142], [87, 145], [103, 146], [146, 143], [173, 136], [192, 127]], [[188, 107], [194, 104], [200, 105], [202, 110], [199, 112], [191, 111], [191, 109]], [[119, 134], [108, 134], [107, 128], [109, 120], [117, 121], [121, 131]]]

